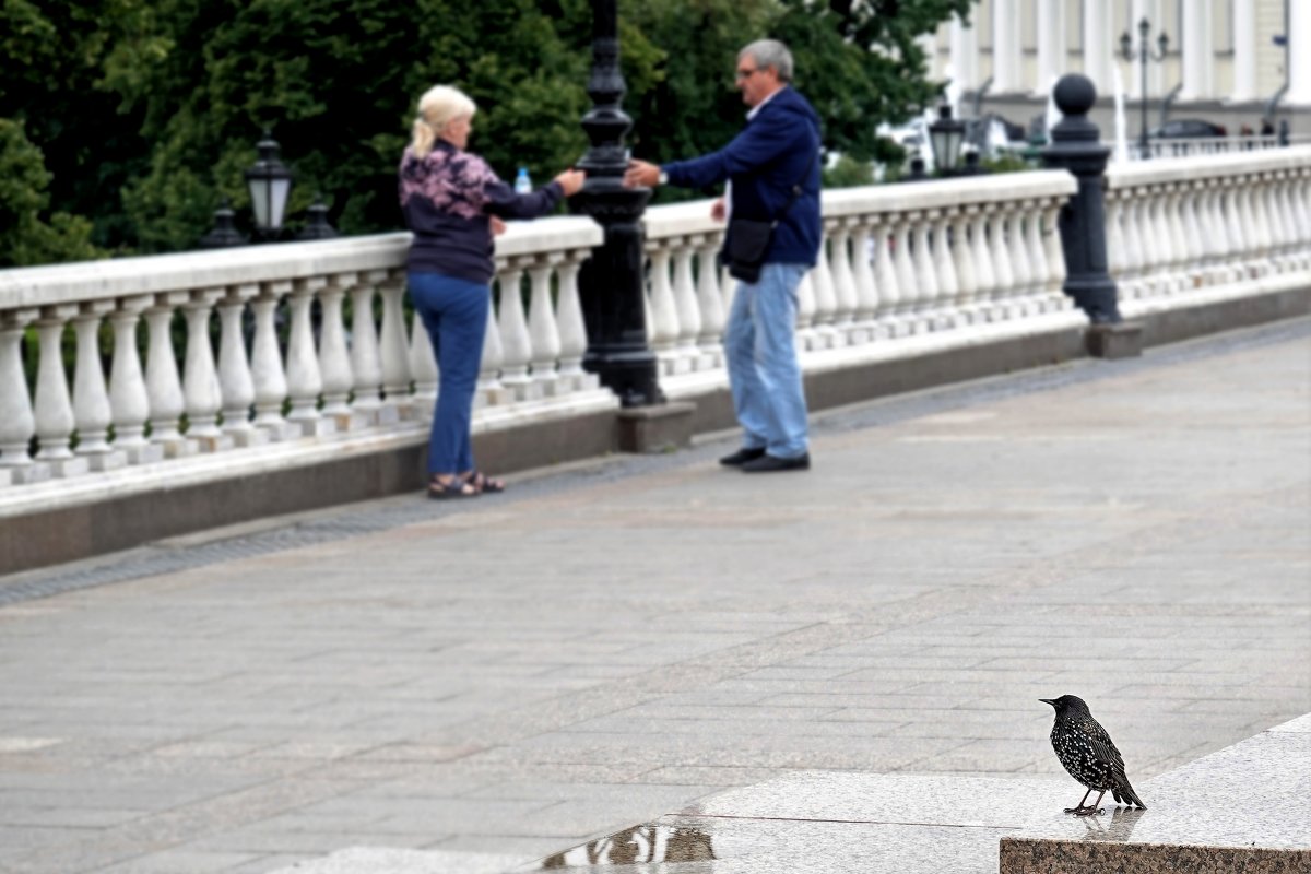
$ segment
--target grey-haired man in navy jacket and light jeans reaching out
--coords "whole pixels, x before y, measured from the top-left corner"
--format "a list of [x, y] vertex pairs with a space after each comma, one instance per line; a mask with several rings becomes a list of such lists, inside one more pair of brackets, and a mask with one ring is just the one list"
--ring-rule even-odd
[[[793, 341], [797, 286], [819, 253], [819, 117], [789, 83], [792, 54], [762, 39], [738, 52], [737, 86], [751, 107], [746, 127], [724, 149], [657, 166], [632, 161], [629, 186], [705, 187], [729, 181], [733, 218], [773, 223], [759, 274], [739, 271], [724, 333], [733, 409], [742, 448], [720, 464], [747, 473], [805, 470], [806, 398]], [[724, 200], [713, 214], [724, 219]], [[745, 231], [739, 231], [742, 237]], [[729, 223], [726, 253], [733, 252]], [[743, 278], [746, 276], [746, 278]]]

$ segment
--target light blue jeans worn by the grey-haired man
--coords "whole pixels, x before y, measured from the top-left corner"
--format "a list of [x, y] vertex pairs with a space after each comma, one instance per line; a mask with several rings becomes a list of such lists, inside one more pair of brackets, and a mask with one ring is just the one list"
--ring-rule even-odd
[[767, 263], [739, 282], [724, 332], [733, 410], [742, 446], [779, 459], [806, 452], [806, 396], [797, 363], [797, 286], [809, 267]]

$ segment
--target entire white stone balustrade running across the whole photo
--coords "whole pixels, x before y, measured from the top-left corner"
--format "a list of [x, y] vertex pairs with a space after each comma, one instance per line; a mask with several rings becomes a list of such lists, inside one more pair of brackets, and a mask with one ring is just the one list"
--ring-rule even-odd
[[[1076, 320], [1057, 232], [1074, 191], [1055, 170], [825, 191], [821, 258], [798, 288], [802, 366]], [[1311, 147], [1113, 166], [1121, 299], [1311, 273], [1308, 204]], [[724, 225], [711, 200], [652, 208], [645, 229], [662, 377], [675, 394], [726, 383], [735, 283], [716, 262]], [[600, 240], [581, 218], [513, 223], [497, 240], [476, 421], [617, 406], [582, 368], [577, 278]], [[0, 486], [379, 430], [421, 440], [439, 375], [405, 303], [408, 244], [397, 233], [0, 271]]]

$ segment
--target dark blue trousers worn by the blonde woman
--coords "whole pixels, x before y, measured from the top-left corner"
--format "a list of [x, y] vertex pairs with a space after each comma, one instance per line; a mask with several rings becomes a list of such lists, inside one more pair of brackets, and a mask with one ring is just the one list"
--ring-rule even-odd
[[437, 409], [427, 444], [427, 473], [467, 473], [475, 469], [469, 428], [492, 290], [439, 273], [409, 274], [409, 290], [437, 354]]

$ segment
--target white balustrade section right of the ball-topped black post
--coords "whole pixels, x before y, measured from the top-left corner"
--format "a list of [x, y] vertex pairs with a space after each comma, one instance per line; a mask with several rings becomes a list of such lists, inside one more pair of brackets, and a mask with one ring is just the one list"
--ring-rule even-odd
[[1121, 301], [1311, 271], [1311, 145], [1116, 165], [1106, 246]]

